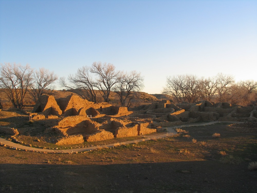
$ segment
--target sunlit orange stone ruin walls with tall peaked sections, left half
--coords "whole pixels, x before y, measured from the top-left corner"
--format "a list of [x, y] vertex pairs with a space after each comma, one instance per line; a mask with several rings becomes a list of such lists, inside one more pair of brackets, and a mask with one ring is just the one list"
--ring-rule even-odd
[[[42, 95], [35, 104], [32, 119], [58, 118], [58, 125], [48, 131], [60, 136], [56, 144], [75, 144], [99, 141], [114, 137], [145, 135], [156, 132], [149, 121], [129, 120], [127, 107], [116, 107], [109, 103], [94, 103], [77, 95], [54, 99], [52, 95]], [[54, 116], [54, 117], [53, 117]]]

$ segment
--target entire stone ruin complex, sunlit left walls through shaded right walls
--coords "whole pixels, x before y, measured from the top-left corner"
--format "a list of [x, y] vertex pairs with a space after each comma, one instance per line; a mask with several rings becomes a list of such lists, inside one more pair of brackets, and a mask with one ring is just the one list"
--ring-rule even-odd
[[174, 104], [162, 100], [140, 106], [133, 111], [109, 103], [94, 103], [77, 95], [54, 99], [42, 95], [35, 104], [31, 117], [60, 119], [48, 131], [60, 136], [56, 144], [76, 144], [100, 141], [114, 137], [145, 135], [156, 132], [160, 127], [169, 127], [197, 121], [255, 121], [257, 107], [232, 106], [229, 103]]

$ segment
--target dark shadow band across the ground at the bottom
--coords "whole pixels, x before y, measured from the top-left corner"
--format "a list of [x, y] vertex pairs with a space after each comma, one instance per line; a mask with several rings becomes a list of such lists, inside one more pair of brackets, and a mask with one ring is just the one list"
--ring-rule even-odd
[[257, 171], [218, 161], [0, 164], [0, 192], [256, 192]]

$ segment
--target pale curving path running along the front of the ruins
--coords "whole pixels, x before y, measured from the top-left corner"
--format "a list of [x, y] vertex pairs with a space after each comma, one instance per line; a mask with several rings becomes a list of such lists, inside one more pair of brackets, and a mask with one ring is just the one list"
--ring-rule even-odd
[[4, 144], [13, 148], [18, 148], [22, 150], [29, 150], [29, 151], [40, 151], [40, 152], [53, 152], [53, 153], [73, 153], [73, 152], [82, 152], [82, 151], [90, 151], [90, 150], [95, 150], [99, 148], [107, 148], [107, 147], [114, 147], [118, 145], [126, 145], [126, 144], [131, 144], [131, 143], [137, 143], [137, 142], [142, 142], [142, 141], [148, 141], [152, 139], [159, 139], [159, 138], [164, 138], [164, 137], [170, 137], [173, 135], [176, 135], [177, 132], [175, 131], [176, 128], [181, 128], [181, 127], [192, 127], [192, 126], [205, 126], [205, 125], [212, 125], [215, 123], [243, 123], [243, 122], [238, 122], [238, 121], [211, 121], [207, 123], [200, 123], [200, 124], [186, 124], [186, 125], [176, 125], [173, 127], [167, 127], [168, 133], [157, 135], [157, 136], [143, 136], [143, 139], [136, 139], [133, 141], [126, 141], [126, 142], [119, 142], [119, 143], [113, 143], [113, 144], [107, 144], [107, 145], [99, 145], [99, 146], [93, 146], [93, 147], [84, 147], [84, 148], [77, 148], [77, 149], [72, 149], [72, 150], [48, 150], [48, 149], [40, 149], [40, 148], [34, 148], [34, 147], [28, 147], [24, 146], [21, 144], [13, 143], [11, 141], [8, 141], [7, 139], [1, 138], [0, 137], [0, 144]]

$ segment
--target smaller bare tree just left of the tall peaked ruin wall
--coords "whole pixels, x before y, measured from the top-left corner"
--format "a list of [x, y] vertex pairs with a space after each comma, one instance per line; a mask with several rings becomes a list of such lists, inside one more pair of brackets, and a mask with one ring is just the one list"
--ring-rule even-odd
[[38, 98], [44, 93], [44, 90], [50, 89], [52, 83], [58, 79], [58, 76], [54, 72], [50, 72], [48, 69], [39, 68], [33, 73], [33, 84], [30, 86], [30, 94], [32, 100], [37, 101]]

